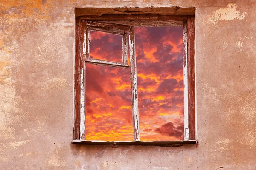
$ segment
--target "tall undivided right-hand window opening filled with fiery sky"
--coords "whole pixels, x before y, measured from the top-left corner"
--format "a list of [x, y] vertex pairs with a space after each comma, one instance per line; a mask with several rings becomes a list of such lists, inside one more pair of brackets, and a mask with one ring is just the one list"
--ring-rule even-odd
[[183, 27], [134, 30], [140, 140], [183, 140]]

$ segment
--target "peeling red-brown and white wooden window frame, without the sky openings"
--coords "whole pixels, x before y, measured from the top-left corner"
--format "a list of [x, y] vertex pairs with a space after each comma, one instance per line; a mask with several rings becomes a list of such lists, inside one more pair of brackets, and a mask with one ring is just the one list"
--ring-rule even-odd
[[[126, 25], [125, 25], [126, 24]], [[184, 43], [184, 140], [182, 141], [140, 141], [138, 121], [136, 57], [133, 26], [183, 26]], [[106, 29], [109, 28], [109, 29]], [[122, 63], [90, 58], [90, 30], [123, 36]], [[193, 15], [154, 16], [138, 14], [119, 16], [106, 14], [99, 17], [76, 17], [75, 40], [75, 121], [74, 144], [132, 144], [172, 146], [195, 144], [195, 25]], [[129, 35], [128, 35], [129, 33]], [[128, 40], [130, 41], [130, 65], [128, 65]], [[131, 68], [131, 98], [134, 141], [87, 141], [85, 139], [85, 63]], [[135, 83], [133, 83], [135, 82]], [[135, 106], [135, 107], [134, 107]]]

